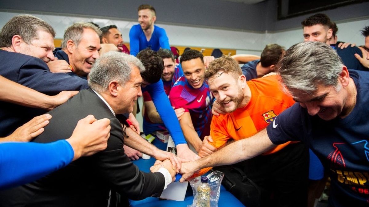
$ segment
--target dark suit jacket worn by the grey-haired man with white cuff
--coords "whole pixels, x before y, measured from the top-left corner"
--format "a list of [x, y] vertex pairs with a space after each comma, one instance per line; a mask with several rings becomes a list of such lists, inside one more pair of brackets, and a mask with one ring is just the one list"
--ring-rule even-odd
[[141, 172], [130, 162], [124, 154], [120, 122], [91, 89], [80, 91], [50, 114], [50, 123], [35, 142], [69, 138], [78, 120], [92, 114], [96, 119], [111, 121], [107, 149], [82, 157], [36, 182], [0, 192], [0, 206], [106, 207], [109, 189], [134, 200], [160, 195], [164, 176]]

